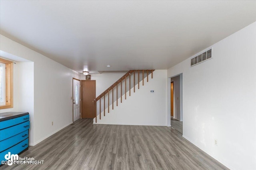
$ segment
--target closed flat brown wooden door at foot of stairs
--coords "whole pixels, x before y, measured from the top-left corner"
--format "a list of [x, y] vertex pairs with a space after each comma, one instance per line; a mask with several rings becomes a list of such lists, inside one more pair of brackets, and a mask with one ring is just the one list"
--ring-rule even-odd
[[95, 117], [96, 80], [81, 80], [82, 118]]

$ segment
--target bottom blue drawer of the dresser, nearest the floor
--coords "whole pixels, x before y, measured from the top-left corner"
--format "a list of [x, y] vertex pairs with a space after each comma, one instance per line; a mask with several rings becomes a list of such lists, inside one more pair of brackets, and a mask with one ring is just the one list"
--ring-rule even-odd
[[28, 148], [28, 138], [22, 141], [21, 143], [18, 143], [17, 145], [11, 147], [10, 149], [0, 152], [0, 161], [5, 160], [4, 155], [8, 154], [8, 152], [11, 152], [11, 154], [18, 154], [27, 148]]

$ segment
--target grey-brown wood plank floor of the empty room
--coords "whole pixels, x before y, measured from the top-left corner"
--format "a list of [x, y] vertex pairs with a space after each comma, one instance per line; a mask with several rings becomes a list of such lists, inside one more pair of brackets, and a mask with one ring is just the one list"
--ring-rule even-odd
[[41, 165], [5, 170], [225, 170], [170, 127], [95, 125], [79, 119], [20, 154]]

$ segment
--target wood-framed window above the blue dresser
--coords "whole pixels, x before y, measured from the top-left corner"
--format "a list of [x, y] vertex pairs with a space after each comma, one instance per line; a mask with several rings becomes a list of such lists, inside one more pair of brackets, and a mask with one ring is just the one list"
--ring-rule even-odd
[[0, 109], [13, 107], [13, 62], [0, 58]]

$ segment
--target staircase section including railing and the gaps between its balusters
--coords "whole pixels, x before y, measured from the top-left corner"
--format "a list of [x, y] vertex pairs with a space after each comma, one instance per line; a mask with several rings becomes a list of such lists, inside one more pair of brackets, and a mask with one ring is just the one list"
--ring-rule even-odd
[[[126, 74], [124, 74], [124, 76], [122, 76], [119, 80], [117, 80], [114, 84], [112, 84], [108, 89], [106, 89], [102, 94], [100, 94], [97, 98], [95, 98], [93, 100], [93, 103], [96, 108], [95, 123], [97, 123], [97, 115], [100, 115], [100, 119], [101, 119], [102, 118], [101, 114], [103, 114], [104, 116], [106, 115], [105, 114], [106, 109], [108, 110], [108, 113], [110, 112], [111, 105], [112, 105], [112, 109], [114, 109], [114, 102], [116, 103], [116, 106], [118, 106], [118, 99], [120, 99], [120, 103], [123, 102], [122, 96], [124, 96], [124, 99], [126, 100], [126, 97], [128, 96], [128, 94], [129, 96], [131, 96], [132, 88], [133, 88], [133, 91], [135, 92], [135, 85], [138, 84], [138, 89], [140, 89], [141, 80], [142, 80], [142, 86], [144, 86], [145, 78], [147, 82], [150, 74], [151, 74], [151, 78], [153, 78], [153, 72], [154, 70], [130, 70]], [[114, 98], [116, 99], [114, 100]], [[99, 107], [99, 111], [97, 111], [97, 105]], [[102, 107], [104, 111], [102, 111]]]

